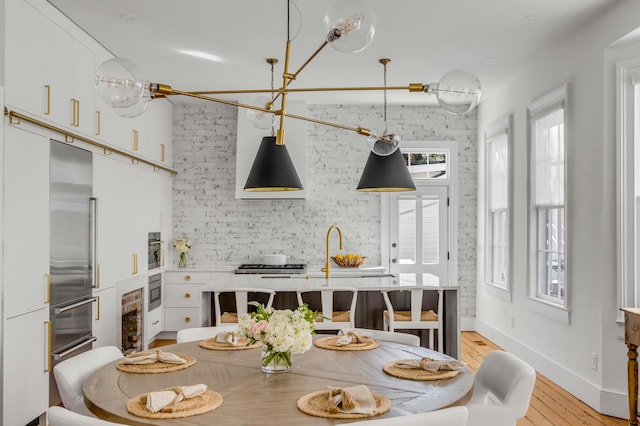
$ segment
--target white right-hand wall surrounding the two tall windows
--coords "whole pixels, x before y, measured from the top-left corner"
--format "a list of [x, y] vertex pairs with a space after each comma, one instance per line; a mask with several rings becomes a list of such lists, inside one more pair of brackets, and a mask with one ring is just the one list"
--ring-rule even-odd
[[[626, 347], [616, 318], [615, 92], [605, 50], [634, 30], [640, 2], [623, 0], [573, 37], [532, 56], [502, 86], [486, 90], [478, 112], [479, 138], [496, 120], [513, 114], [513, 302], [482, 284], [484, 271], [484, 155], [479, 144], [479, 233], [476, 328], [595, 409], [626, 411]], [[526, 108], [536, 97], [569, 83], [567, 158], [570, 323], [531, 309], [525, 300], [527, 230]], [[605, 88], [607, 90], [605, 91]], [[511, 327], [513, 320], [514, 327]], [[592, 353], [599, 360], [591, 368]]]

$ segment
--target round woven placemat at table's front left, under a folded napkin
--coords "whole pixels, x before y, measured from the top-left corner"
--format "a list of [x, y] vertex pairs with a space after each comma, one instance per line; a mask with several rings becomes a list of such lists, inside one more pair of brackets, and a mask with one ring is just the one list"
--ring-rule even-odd
[[134, 416], [147, 419], [179, 419], [181, 417], [197, 416], [218, 408], [222, 404], [222, 395], [218, 392], [207, 390], [202, 395], [178, 402], [175, 411], [159, 411], [157, 413], [147, 410], [146, 400], [146, 393], [130, 399], [127, 401], [127, 411]]

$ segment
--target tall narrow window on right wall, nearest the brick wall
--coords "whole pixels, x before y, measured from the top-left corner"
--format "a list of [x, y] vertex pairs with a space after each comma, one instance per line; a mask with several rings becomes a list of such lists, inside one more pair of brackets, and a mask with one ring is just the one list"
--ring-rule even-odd
[[485, 132], [485, 282], [502, 290], [509, 290], [510, 123], [509, 117]]

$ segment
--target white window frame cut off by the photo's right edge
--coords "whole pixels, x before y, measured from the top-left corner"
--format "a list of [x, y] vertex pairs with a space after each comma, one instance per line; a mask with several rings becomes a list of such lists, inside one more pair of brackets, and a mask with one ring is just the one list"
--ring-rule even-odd
[[640, 227], [636, 215], [640, 206], [636, 204], [636, 170], [640, 170], [640, 120], [635, 117], [640, 106], [640, 59], [616, 63], [616, 176], [617, 198], [617, 298], [616, 321], [622, 323], [623, 307], [640, 306]]

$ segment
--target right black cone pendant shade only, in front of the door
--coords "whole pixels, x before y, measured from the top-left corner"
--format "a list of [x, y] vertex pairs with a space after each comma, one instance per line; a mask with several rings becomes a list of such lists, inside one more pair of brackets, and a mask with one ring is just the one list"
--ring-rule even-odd
[[415, 191], [415, 189], [407, 163], [399, 149], [387, 156], [369, 153], [369, 159], [358, 184], [358, 191], [399, 192]]

